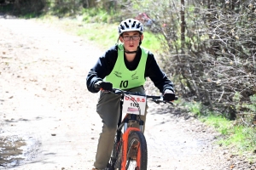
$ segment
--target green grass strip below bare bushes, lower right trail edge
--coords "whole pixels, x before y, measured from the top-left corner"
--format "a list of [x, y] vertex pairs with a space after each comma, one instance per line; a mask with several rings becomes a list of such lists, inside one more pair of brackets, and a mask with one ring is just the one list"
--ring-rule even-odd
[[218, 116], [217, 113], [202, 111], [200, 103], [181, 102], [192, 114], [197, 116], [201, 122], [210, 127], [214, 127], [220, 137], [217, 144], [227, 148], [232, 148], [234, 154], [246, 155], [248, 160], [256, 161], [256, 129], [255, 127], [246, 127], [236, 124], [236, 121], [230, 121], [224, 116]]

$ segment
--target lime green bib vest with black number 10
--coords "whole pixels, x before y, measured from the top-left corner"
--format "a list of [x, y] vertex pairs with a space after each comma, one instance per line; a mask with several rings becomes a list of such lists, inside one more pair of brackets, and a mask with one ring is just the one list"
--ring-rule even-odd
[[105, 82], [113, 83], [113, 88], [128, 89], [136, 88], [144, 85], [145, 79], [145, 67], [148, 57], [148, 50], [142, 48], [142, 56], [137, 69], [130, 71], [125, 65], [124, 46], [119, 44], [118, 58], [113, 66], [113, 71], [104, 78]]

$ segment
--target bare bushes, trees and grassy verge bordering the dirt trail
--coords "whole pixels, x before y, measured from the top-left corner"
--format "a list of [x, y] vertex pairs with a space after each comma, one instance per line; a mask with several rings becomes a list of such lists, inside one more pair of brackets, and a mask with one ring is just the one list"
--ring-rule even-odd
[[106, 30], [147, 14], [143, 46], [175, 82], [177, 105], [223, 133], [220, 144], [255, 157], [255, 0], [0, 0], [0, 12], [76, 20], [77, 34], [102, 46], [117, 40]]

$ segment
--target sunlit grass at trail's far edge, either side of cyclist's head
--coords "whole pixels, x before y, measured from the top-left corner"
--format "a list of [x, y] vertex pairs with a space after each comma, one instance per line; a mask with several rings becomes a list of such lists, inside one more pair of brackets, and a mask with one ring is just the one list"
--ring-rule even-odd
[[[108, 49], [113, 46], [119, 37], [118, 24], [107, 23], [87, 23], [83, 20], [58, 20], [58, 18], [44, 15], [39, 20], [46, 23], [54, 23], [62, 27], [65, 31], [83, 37], [102, 49]], [[148, 48], [151, 52], [156, 53], [160, 51], [160, 41], [152, 33], [145, 31], [142, 46]]]

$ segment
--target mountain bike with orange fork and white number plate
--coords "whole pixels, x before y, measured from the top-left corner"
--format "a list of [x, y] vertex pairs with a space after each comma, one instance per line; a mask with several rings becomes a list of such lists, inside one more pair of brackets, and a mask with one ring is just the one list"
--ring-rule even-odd
[[[140, 116], [145, 112], [147, 99], [157, 104], [172, 102], [163, 100], [162, 96], [127, 92], [118, 88], [113, 88], [107, 93], [120, 95], [121, 98], [112, 155], [105, 170], [147, 170], [148, 149], [143, 134], [144, 122]], [[124, 118], [123, 113], [126, 113]], [[139, 128], [132, 127], [134, 123], [137, 123]]]

